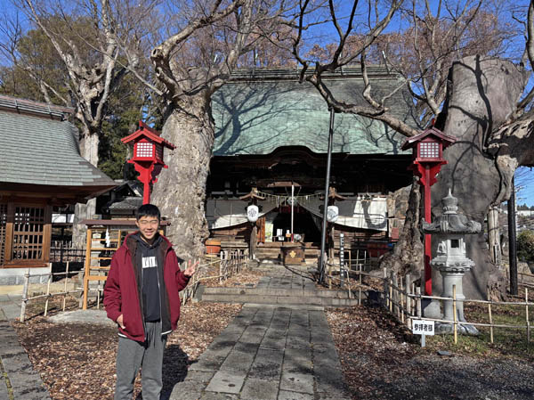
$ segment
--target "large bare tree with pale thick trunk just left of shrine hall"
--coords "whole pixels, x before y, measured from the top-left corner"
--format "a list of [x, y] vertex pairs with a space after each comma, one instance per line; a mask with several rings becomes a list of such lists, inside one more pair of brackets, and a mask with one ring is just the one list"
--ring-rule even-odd
[[[274, 0], [233, 0], [181, 4], [172, 35], [150, 55], [166, 99], [162, 135], [176, 145], [166, 155], [169, 166], [155, 185], [152, 201], [171, 225], [167, 234], [182, 257], [198, 257], [208, 236], [204, 200], [214, 145], [211, 98], [239, 65], [277, 42], [277, 52], [292, 32], [295, 7]], [[319, 4], [320, 5], [320, 4]], [[311, 4], [316, 10], [317, 3]], [[282, 23], [284, 22], [284, 23]], [[275, 52], [276, 53], [276, 52]], [[252, 54], [252, 55], [251, 55]]]

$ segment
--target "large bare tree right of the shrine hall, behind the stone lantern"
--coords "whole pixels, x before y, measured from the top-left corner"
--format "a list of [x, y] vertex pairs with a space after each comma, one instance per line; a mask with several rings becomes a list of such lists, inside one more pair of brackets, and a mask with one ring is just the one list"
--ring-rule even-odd
[[[509, 197], [515, 168], [534, 164], [534, 113], [529, 109], [534, 94], [524, 94], [527, 71], [522, 63], [497, 58], [506, 55], [502, 52], [510, 40], [510, 24], [501, 29], [495, 10], [488, 10], [490, 2], [483, 0], [392, 1], [389, 11], [383, 11], [377, 1], [356, 0], [345, 19], [340, 18], [333, 1], [329, 4], [338, 40], [326, 56], [321, 54], [323, 60], [311, 60], [303, 54], [299, 37], [296, 38], [295, 59], [303, 69], [312, 69], [312, 74], [303, 73], [302, 78], [316, 86], [336, 111], [382, 120], [403, 135], [416, 135], [418, 127], [405, 124], [390, 112], [387, 100], [391, 94], [380, 98], [374, 94], [367, 75], [368, 59], [379, 60], [377, 54], [384, 57], [390, 69], [406, 78], [406, 85], [398, 90], [412, 94], [420, 126], [437, 118], [436, 127], [457, 137], [457, 143], [445, 153], [449, 164], [442, 167], [439, 183], [433, 186], [433, 210], [439, 212], [436, 206], [451, 188], [461, 210], [483, 222], [490, 208]], [[303, 2], [304, 8], [305, 5]], [[359, 10], [367, 18], [360, 20], [359, 29], [354, 29]], [[533, 13], [530, 2], [528, 18], [518, 18], [526, 20], [522, 62], [530, 63], [530, 70], [534, 55]], [[409, 21], [409, 28], [380, 37], [394, 15]], [[388, 40], [392, 37], [394, 41]], [[400, 45], [404, 53], [398, 50]], [[360, 63], [366, 84], [365, 105], [338, 101], [321, 79], [325, 71], [354, 61]], [[419, 201], [418, 196], [411, 199]], [[411, 208], [413, 212], [407, 218], [406, 236], [384, 264], [396, 269], [420, 269], [417, 206]], [[482, 233], [469, 240], [467, 246], [477, 263], [467, 276], [467, 296], [484, 296], [487, 289], [503, 293], [504, 271], [492, 262]], [[439, 283], [439, 277], [435, 278], [434, 282]]]

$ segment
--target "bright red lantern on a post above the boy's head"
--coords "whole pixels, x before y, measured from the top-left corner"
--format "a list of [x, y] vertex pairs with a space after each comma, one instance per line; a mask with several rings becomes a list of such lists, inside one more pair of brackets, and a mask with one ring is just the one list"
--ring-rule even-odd
[[163, 161], [164, 150], [165, 148], [174, 150], [175, 146], [142, 121], [139, 121], [138, 130], [122, 138], [121, 141], [134, 147], [133, 157], [128, 159], [128, 162], [134, 164], [135, 170], [139, 173], [137, 179], [144, 185], [142, 204], [149, 204], [150, 185], [158, 182], [157, 176], [161, 169], [167, 167]]

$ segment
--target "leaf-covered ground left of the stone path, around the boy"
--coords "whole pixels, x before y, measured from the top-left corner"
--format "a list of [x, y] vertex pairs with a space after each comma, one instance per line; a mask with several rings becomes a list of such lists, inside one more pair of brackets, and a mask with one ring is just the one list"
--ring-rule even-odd
[[[164, 392], [183, 380], [188, 365], [239, 314], [241, 306], [188, 304], [182, 307], [178, 330], [167, 340]], [[113, 398], [117, 329], [90, 324], [56, 324], [43, 316], [13, 323], [22, 346], [54, 400]], [[136, 381], [136, 393], [141, 382]]]

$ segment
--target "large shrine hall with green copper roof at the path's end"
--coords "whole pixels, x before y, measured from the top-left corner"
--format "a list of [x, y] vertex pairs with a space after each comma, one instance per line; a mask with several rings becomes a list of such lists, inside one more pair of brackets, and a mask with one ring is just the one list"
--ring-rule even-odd
[[[393, 93], [386, 102], [390, 112], [417, 127], [409, 96], [399, 90], [402, 78], [381, 67], [369, 74], [376, 96]], [[365, 103], [360, 68], [323, 80], [337, 98]], [[212, 239], [223, 248], [247, 246], [252, 224], [248, 203], [239, 197], [257, 188], [264, 198], [258, 201], [258, 251], [267, 257], [266, 249], [274, 249], [270, 257], [277, 256], [291, 225], [293, 190], [294, 233], [306, 249], [317, 250], [329, 126], [328, 107], [317, 89], [299, 83], [295, 69], [242, 70], [214, 94], [212, 108], [217, 129], [206, 200]], [[332, 246], [339, 246], [339, 233], [349, 249], [384, 248], [392, 241], [388, 194], [409, 185], [412, 176], [411, 153], [401, 150], [404, 140], [380, 121], [336, 114], [330, 182], [344, 200], [336, 202], [340, 217], [331, 225]]]

